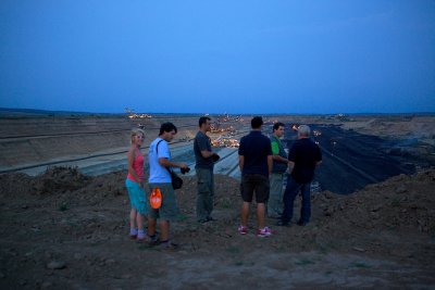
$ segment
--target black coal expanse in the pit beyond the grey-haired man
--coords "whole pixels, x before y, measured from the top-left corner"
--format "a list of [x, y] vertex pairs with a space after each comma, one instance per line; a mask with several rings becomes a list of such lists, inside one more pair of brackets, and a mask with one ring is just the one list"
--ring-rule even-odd
[[[349, 194], [366, 185], [384, 181], [400, 174], [414, 174], [435, 166], [426, 156], [434, 148], [422, 151], [419, 142], [397, 147], [402, 140], [391, 141], [376, 136], [344, 130], [335, 125], [311, 125], [313, 139], [322, 149], [323, 163], [315, 180], [321, 190]], [[296, 133], [287, 137], [290, 147]]]

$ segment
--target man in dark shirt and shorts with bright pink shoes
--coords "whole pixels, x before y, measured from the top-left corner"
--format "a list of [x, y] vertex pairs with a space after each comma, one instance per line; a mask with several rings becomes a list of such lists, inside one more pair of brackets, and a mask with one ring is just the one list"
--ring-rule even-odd
[[269, 175], [272, 172], [271, 141], [261, 134], [263, 119], [256, 116], [251, 119], [252, 130], [240, 139], [238, 149], [239, 167], [241, 172], [240, 193], [244, 201], [241, 205], [241, 224], [238, 231], [241, 235], [248, 232], [249, 207], [252, 202], [253, 192], [257, 201], [258, 237], [272, 235], [265, 226], [265, 203], [269, 199]]

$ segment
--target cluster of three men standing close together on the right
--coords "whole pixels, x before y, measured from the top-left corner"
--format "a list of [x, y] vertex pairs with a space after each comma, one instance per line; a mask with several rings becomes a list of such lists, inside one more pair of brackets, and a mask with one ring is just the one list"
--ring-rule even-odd
[[[241, 172], [240, 193], [243, 199], [241, 223], [238, 231], [248, 232], [248, 216], [253, 194], [257, 202], [258, 237], [268, 237], [272, 230], [265, 226], [265, 215], [277, 218], [277, 226], [290, 226], [295, 198], [301, 192], [302, 205], [297, 222], [306, 226], [310, 222], [310, 187], [315, 168], [322, 162], [319, 146], [310, 139], [310, 127], [298, 127], [298, 140], [289, 149], [288, 155], [281, 141], [285, 125], [273, 125], [271, 138], [262, 135], [263, 119], [251, 119], [251, 133], [240, 140], [239, 167]], [[283, 193], [283, 181], [287, 185]]]

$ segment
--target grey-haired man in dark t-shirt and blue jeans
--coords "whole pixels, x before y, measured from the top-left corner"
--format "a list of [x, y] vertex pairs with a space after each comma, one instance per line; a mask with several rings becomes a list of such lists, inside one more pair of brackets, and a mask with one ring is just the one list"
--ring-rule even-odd
[[310, 127], [300, 125], [298, 127], [298, 140], [291, 146], [288, 153], [288, 178], [284, 192], [284, 212], [279, 226], [290, 225], [293, 207], [296, 196], [301, 191], [302, 206], [300, 210], [299, 226], [306, 226], [310, 222], [311, 181], [314, 169], [322, 163], [322, 152], [316, 143], [310, 139]]

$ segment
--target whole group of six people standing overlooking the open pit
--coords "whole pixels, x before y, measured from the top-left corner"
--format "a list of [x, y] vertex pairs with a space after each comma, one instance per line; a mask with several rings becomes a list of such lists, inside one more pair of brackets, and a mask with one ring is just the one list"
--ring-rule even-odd
[[[214, 204], [214, 163], [220, 159], [212, 151], [211, 140], [207, 133], [211, 130], [211, 118], [202, 116], [198, 122], [199, 130], [194, 140], [197, 176], [196, 215], [198, 223], [214, 220], [212, 217]], [[275, 123], [273, 135], [268, 138], [261, 133], [262, 117], [251, 119], [252, 130], [240, 139], [238, 149], [239, 167], [241, 172], [240, 196], [243, 199], [240, 226], [241, 235], [248, 232], [249, 209], [253, 197], [257, 202], [258, 237], [268, 237], [272, 230], [265, 225], [265, 216], [278, 218], [278, 226], [289, 226], [293, 218], [294, 201], [299, 191], [302, 196], [301, 215], [298, 225], [304, 226], [310, 220], [310, 184], [315, 167], [322, 162], [320, 148], [310, 139], [310, 128], [301, 125], [298, 128], [298, 140], [294, 142], [287, 155], [281, 138], [284, 135], [283, 123]], [[175, 249], [177, 245], [170, 239], [170, 223], [178, 216], [175, 192], [172, 186], [171, 172], [181, 168], [187, 172], [186, 163], [173, 162], [169, 143], [177, 134], [172, 123], [160, 127], [148, 152], [149, 190], [144, 186], [144, 155], [140, 152], [145, 139], [141, 129], [132, 130], [130, 148], [127, 153], [128, 175], [126, 188], [132, 210], [129, 214], [132, 239], [138, 242], [159, 244], [161, 248]], [[287, 186], [283, 194], [283, 181], [287, 175]], [[159, 188], [162, 202], [159, 209], [153, 209], [149, 202], [151, 192]], [[145, 230], [145, 217], [148, 217], [148, 230]], [[157, 220], [160, 234], [157, 237]]]

